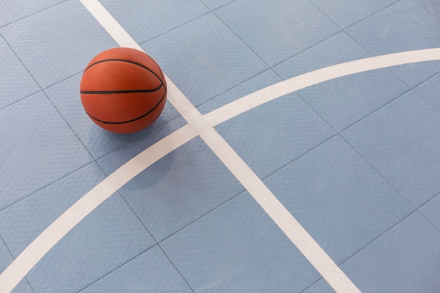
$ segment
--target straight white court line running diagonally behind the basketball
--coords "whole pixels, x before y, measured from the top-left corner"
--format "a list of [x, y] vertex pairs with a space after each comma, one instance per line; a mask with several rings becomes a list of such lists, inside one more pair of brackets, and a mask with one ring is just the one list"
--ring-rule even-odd
[[[117, 23], [115, 18], [99, 4], [97, 0], [80, 0], [91, 14], [103, 25], [105, 30], [110, 33], [119, 46], [138, 46], [131, 36], [125, 32], [124, 28]], [[238, 181], [254, 197], [258, 204], [266, 211], [268, 216], [283, 230], [285, 235], [297, 246], [304, 254], [312, 266], [323, 275], [323, 278], [332, 286], [337, 293], [356, 293], [360, 292], [347, 275], [332, 261], [330, 256], [313, 240], [311, 235], [298, 223], [298, 221], [287, 211], [281, 202], [271, 193], [266, 185], [258, 176], [247, 166], [241, 157], [228, 145], [223, 137], [210, 125], [207, 120], [194, 107], [190, 100], [183, 95], [177, 86], [168, 79], [168, 100], [182, 115], [196, 133], [212, 149], [214, 154], [219, 157], [221, 162], [238, 178]]]

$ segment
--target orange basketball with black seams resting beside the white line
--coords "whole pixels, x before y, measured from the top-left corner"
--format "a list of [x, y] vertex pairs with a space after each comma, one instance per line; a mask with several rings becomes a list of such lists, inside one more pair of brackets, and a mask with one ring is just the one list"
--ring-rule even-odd
[[134, 48], [99, 53], [84, 70], [79, 89], [84, 110], [93, 122], [119, 134], [150, 126], [167, 99], [159, 65]]

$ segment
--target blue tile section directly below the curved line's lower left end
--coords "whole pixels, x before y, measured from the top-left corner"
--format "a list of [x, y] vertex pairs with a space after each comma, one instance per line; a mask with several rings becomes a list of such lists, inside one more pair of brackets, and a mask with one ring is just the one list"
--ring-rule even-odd
[[77, 292], [155, 245], [115, 193], [86, 216], [27, 274], [35, 293]]

